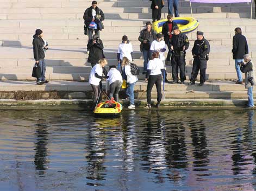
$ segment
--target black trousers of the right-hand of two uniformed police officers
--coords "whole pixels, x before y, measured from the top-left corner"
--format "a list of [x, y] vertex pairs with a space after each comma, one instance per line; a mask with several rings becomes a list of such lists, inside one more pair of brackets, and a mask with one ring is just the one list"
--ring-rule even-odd
[[205, 71], [207, 68], [207, 60], [206, 59], [199, 59], [195, 58], [193, 60], [193, 67], [192, 67], [192, 73], [191, 73], [191, 78], [190, 80], [192, 82], [196, 81], [197, 74], [200, 70], [200, 82], [204, 83], [205, 82]]

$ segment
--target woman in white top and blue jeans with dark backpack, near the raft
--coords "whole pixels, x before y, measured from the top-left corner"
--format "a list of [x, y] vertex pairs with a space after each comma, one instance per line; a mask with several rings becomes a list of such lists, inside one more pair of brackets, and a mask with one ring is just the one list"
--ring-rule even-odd
[[138, 81], [138, 77], [136, 75], [133, 75], [130, 69], [130, 60], [127, 57], [123, 57], [122, 60], [122, 67], [124, 67], [124, 72], [127, 76], [127, 90], [126, 94], [129, 96], [130, 99], [130, 105], [128, 106], [128, 109], [135, 109], [134, 104], [134, 86], [136, 82]]

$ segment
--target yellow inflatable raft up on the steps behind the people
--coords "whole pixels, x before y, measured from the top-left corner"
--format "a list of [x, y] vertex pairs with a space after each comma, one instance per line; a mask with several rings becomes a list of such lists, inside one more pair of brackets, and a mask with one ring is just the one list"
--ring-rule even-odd
[[[161, 33], [163, 24], [166, 21], [167, 19], [155, 21], [153, 23], [153, 29], [157, 33]], [[173, 21], [179, 26], [179, 30], [182, 31], [182, 33], [190, 33], [199, 26], [199, 22], [192, 17], [176, 17], [173, 18]]]

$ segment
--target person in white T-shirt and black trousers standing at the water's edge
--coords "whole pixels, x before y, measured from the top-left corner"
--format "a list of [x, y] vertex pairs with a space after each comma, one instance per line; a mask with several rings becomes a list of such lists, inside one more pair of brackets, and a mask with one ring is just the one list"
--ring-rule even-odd
[[162, 99], [161, 93], [161, 82], [162, 74], [165, 72], [164, 63], [159, 59], [159, 52], [153, 52], [152, 59], [148, 61], [147, 64], [147, 74], [145, 81], [147, 83], [147, 105], [145, 109], [151, 108], [151, 91], [155, 84], [157, 86], [157, 104], [156, 107], [160, 106], [160, 101]]

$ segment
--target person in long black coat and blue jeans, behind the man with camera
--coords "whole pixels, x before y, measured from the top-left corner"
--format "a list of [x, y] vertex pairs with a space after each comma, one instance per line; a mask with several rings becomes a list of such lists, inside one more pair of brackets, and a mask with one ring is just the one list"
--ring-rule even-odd
[[246, 37], [242, 35], [242, 30], [239, 27], [235, 28], [232, 53], [235, 60], [236, 74], [238, 75], [238, 81], [235, 84], [242, 84], [242, 73], [238, 63], [243, 61], [243, 55], [248, 54], [248, 44]]

